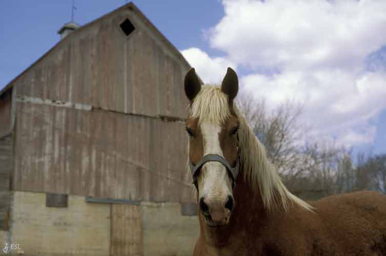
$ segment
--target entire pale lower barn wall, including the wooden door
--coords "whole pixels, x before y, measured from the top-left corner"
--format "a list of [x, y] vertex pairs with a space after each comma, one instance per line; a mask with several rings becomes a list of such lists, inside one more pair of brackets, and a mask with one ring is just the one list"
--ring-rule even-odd
[[7, 255], [187, 256], [198, 231], [197, 217], [181, 216], [179, 203], [99, 204], [68, 196], [68, 207], [56, 208], [46, 207], [45, 194], [15, 191], [0, 243], [19, 244]]

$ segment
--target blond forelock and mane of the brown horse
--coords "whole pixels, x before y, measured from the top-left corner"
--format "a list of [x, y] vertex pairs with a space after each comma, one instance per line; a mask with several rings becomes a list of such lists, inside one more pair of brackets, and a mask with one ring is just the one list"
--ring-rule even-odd
[[[267, 210], [272, 210], [278, 202], [285, 210], [289, 203], [294, 203], [306, 210], [312, 206], [292, 195], [282, 183], [275, 166], [269, 161], [265, 147], [260, 143], [248, 125], [246, 118], [238, 110], [233, 110], [239, 119], [238, 147], [244, 180], [249, 182], [255, 195], [260, 195]], [[228, 96], [221, 92], [220, 87], [202, 86], [191, 105], [189, 118], [198, 118], [198, 122], [223, 124], [231, 116]]]

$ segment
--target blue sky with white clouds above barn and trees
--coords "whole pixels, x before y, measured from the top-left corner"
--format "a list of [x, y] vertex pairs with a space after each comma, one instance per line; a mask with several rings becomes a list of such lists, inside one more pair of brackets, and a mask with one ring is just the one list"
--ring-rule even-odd
[[[85, 25], [126, 4], [75, 0]], [[386, 153], [386, 1], [134, 1], [204, 82], [236, 70], [269, 108], [290, 99], [315, 140]], [[0, 88], [59, 40], [72, 0], [0, 1]]]

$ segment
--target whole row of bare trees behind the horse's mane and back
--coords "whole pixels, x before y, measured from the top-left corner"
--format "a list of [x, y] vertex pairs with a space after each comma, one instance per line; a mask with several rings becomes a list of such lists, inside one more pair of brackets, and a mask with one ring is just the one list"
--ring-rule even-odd
[[307, 142], [309, 129], [302, 106], [286, 101], [268, 111], [265, 99], [241, 95], [237, 104], [267, 150], [287, 187], [295, 194], [322, 191], [323, 196], [373, 189], [386, 193], [386, 155], [371, 157], [352, 148], [318, 139]]

